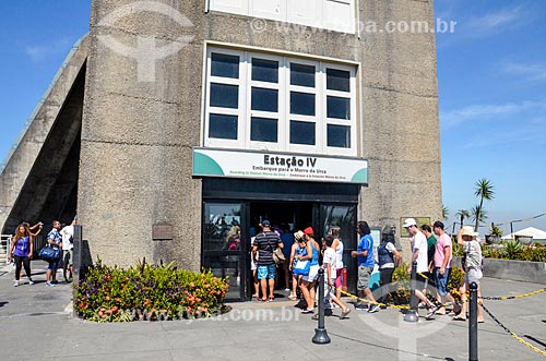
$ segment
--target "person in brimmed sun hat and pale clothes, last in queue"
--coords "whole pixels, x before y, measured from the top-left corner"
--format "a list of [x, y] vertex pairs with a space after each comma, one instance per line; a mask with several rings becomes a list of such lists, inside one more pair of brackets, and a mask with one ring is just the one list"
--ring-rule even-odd
[[[479, 289], [479, 279], [482, 279], [482, 248], [476, 240], [478, 232], [474, 231], [472, 226], [464, 226], [456, 233], [456, 242], [464, 248], [464, 254], [466, 262], [464, 263], [464, 282], [461, 286], [461, 313], [453, 320], [466, 321], [466, 290], [471, 282], [476, 282], [478, 285], [478, 299], [482, 298], [482, 291]], [[477, 322], [484, 322], [484, 309], [480, 302], [478, 302], [478, 316]]]

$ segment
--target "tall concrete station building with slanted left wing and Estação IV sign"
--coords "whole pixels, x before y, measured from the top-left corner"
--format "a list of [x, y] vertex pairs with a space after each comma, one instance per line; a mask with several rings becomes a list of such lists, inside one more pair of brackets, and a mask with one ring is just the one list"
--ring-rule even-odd
[[432, 0], [93, 0], [1, 175], [3, 232], [78, 212], [93, 257], [212, 267], [245, 299], [227, 243], [264, 218], [339, 225], [346, 252], [358, 219], [437, 219], [434, 24]]

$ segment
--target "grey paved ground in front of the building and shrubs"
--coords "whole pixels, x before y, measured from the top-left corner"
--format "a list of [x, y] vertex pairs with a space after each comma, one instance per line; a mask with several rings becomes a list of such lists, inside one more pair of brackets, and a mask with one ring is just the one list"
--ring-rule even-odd
[[[12, 266], [0, 269], [0, 360], [467, 360], [467, 324], [449, 316], [406, 323], [394, 310], [347, 320], [327, 317], [329, 345], [311, 342], [317, 322], [294, 302], [234, 303], [217, 318], [96, 324], [74, 318], [71, 286], [45, 287], [45, 263], [34, 262], [36, 285], [13, 287]], [[60, 278], [60, 277], [59, 277]], [[515, 296], [544, 285], [484, 279], [484, 296]], [[281, 293], [284, 292], [280, 292]], [[546, 292], [486, 301], [513, 333], [546, 347]], [[335, 314], [340, 311], [335, 310]], [[424, 312], [422, 311], [422, 314]], [[542, 345], [541, 345], [542, 342]], [[546, 360], [486, 316], [479, 360]]]

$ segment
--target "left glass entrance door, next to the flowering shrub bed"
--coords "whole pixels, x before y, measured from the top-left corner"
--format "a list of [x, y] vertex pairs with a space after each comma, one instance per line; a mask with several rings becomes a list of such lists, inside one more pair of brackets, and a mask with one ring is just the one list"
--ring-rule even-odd
[[245, 300], [245, 203], [205, 202], [203, 209], [201, 264], [216, 277], [229, 277], [226, 300]]

